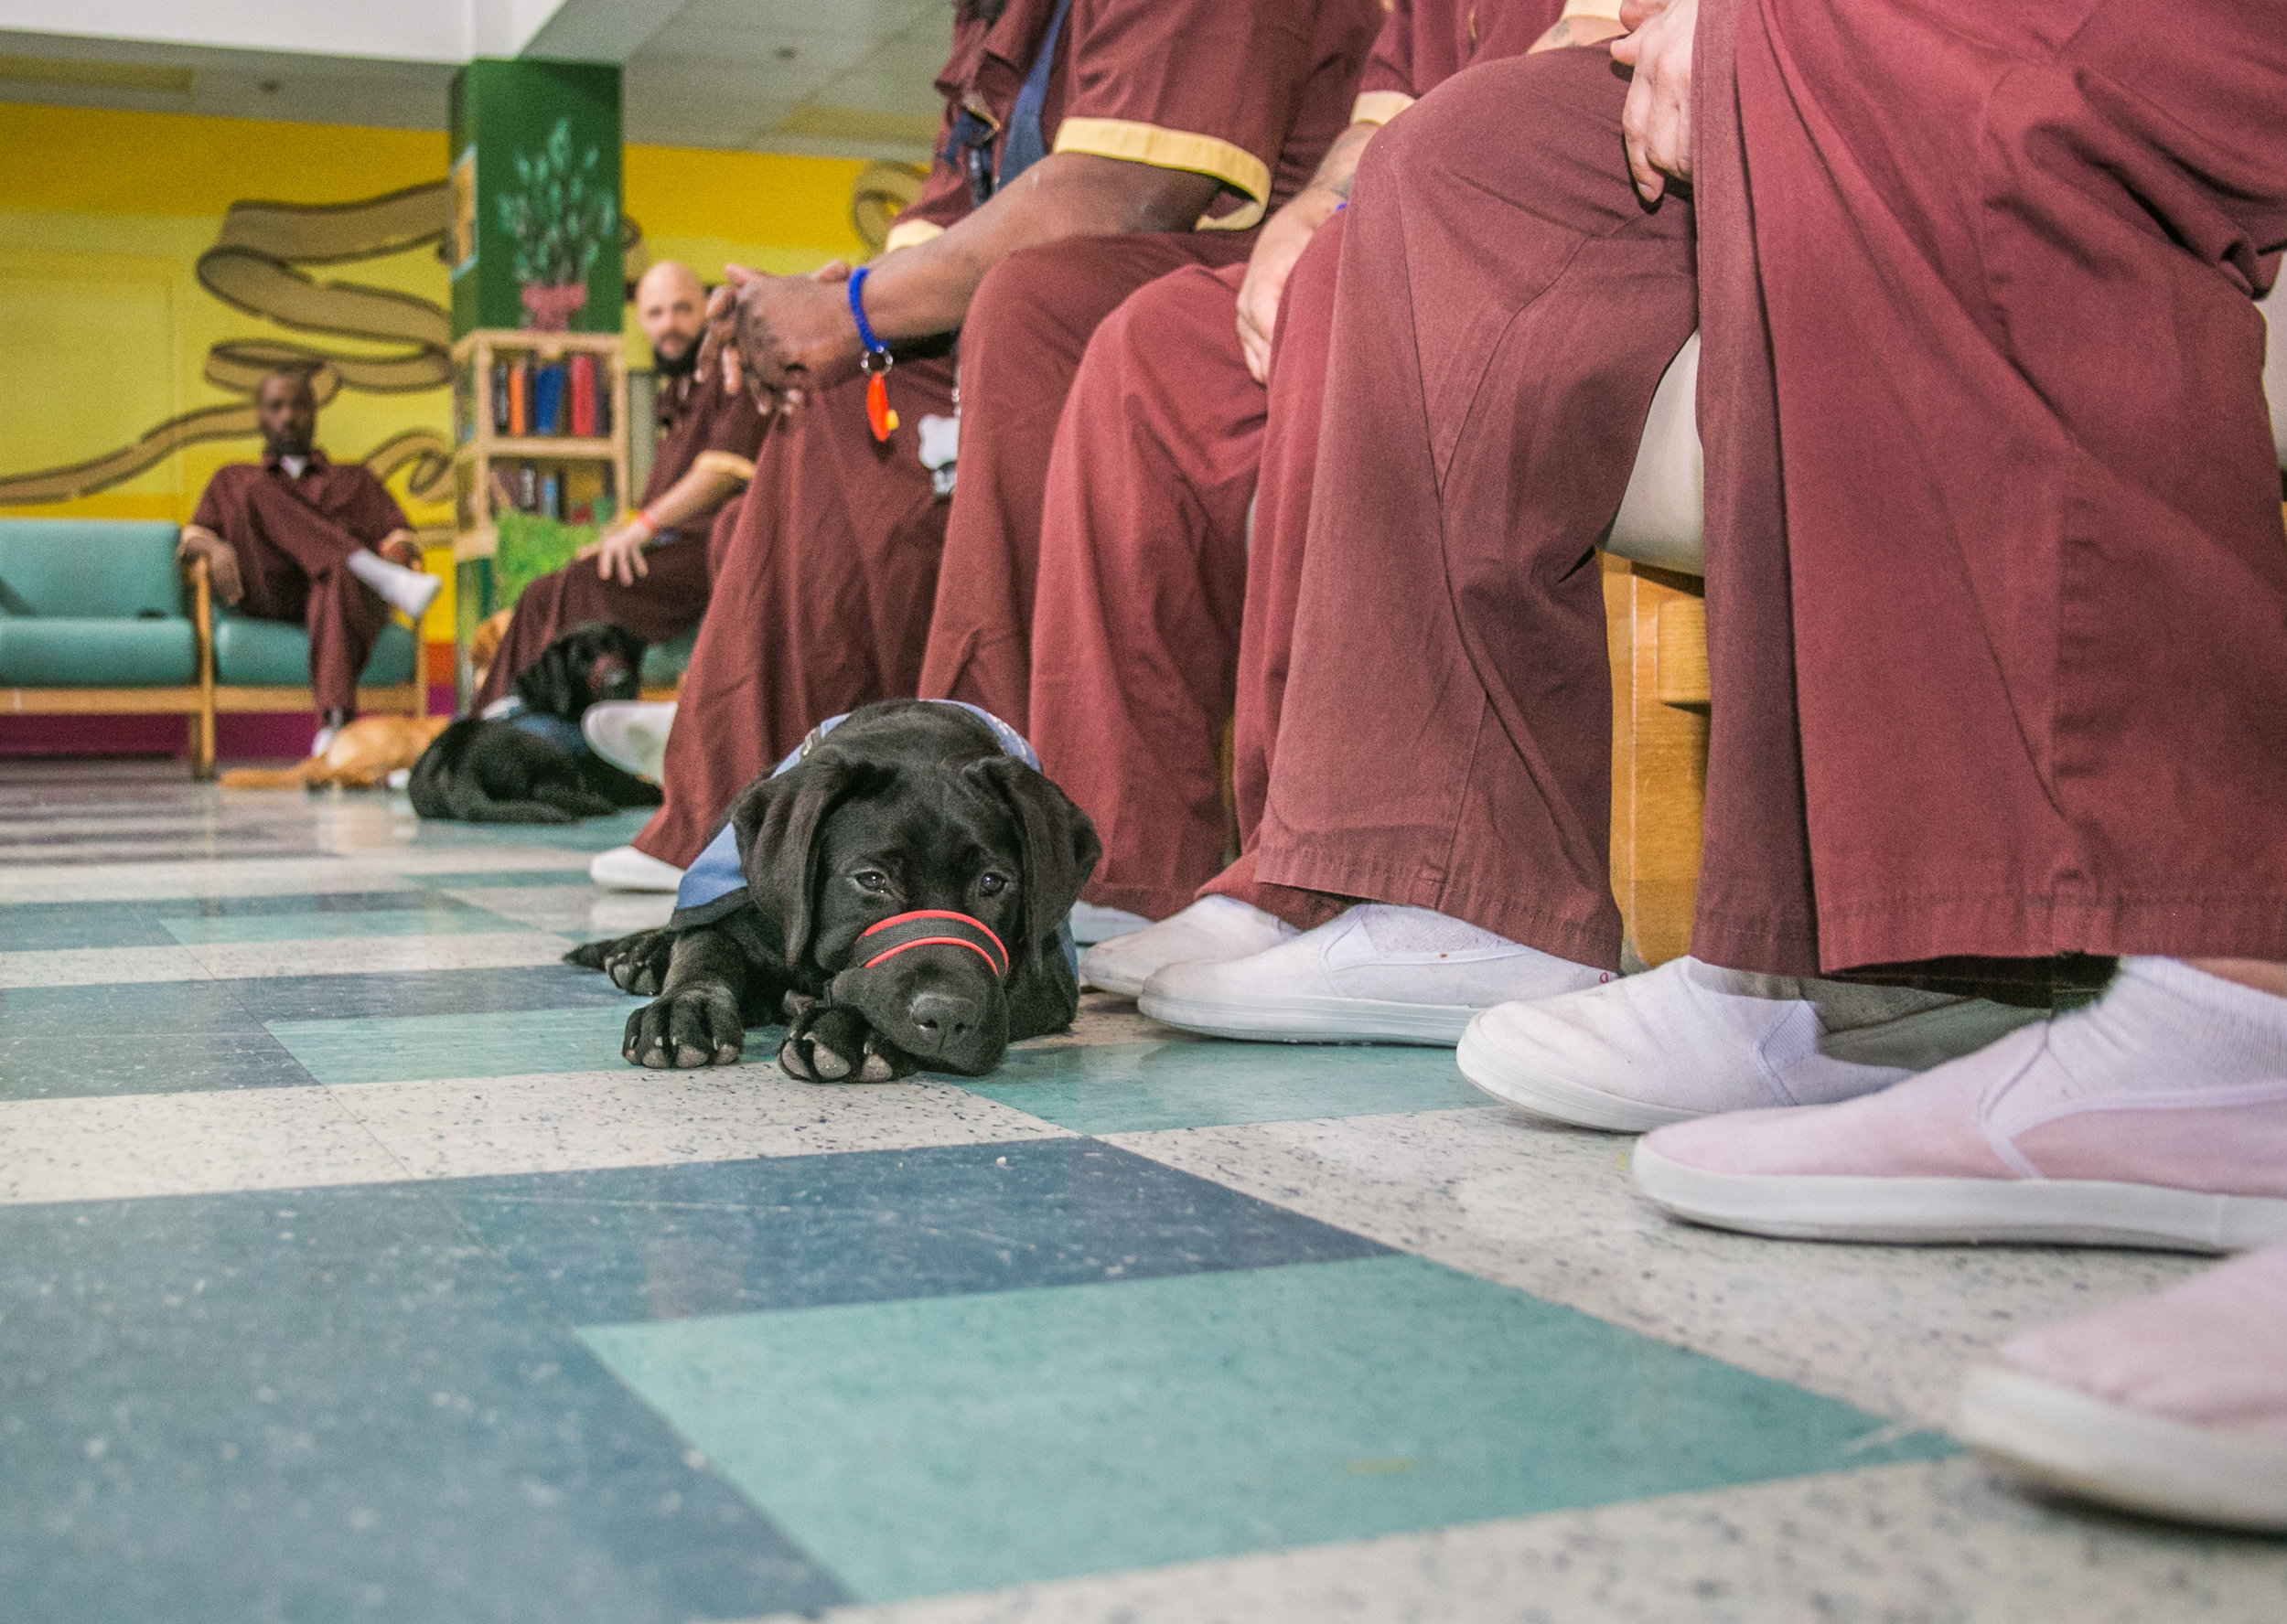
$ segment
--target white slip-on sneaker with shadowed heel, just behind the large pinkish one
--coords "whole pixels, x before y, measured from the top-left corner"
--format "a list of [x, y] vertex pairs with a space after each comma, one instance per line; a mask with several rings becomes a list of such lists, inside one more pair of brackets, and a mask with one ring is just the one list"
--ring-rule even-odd
[[1461, 1075], [1496, 1100], [1610, 1132], [1887, 1089], [2040, 1020], [1981, 997], [1672, 958], [1612, 986], [1484, 1011]]

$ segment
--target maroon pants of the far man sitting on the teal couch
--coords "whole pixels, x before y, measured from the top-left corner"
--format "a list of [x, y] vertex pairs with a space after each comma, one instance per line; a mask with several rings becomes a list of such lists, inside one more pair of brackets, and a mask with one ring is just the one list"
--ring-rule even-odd
[[357, 677], [389, 624], [389, 604], [350, 574], [350, 554], [370, 549], [268, 478], [247, 485], [222, 540], [238, 554], [247, 588], [238, 611], [300, 620], [309, 631], [311, 698], [320, 711], [354, 711]]

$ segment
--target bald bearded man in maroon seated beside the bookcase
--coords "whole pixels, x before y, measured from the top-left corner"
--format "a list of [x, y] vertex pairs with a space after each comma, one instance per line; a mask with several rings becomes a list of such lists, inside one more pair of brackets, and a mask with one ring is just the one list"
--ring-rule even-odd
[[[643, 501], [563, 570], [528, 583], [485, 670], [478, 707], [572, 627], [601, 620], [645, 643], [670, 643], [707, 613], [707, 535], [716, 512], [755, 478], [762, 414], [723, 368], [700, 373], [707, 288], [672, 258], [636, 284], [636, 320], [659, 377], [659, 451]], [[592, 567], [590, 567], [592, 560]]]

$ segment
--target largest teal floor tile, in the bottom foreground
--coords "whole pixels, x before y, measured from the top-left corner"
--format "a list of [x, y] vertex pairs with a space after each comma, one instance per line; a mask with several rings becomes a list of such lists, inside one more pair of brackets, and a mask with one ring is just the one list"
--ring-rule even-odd
[[869, 1601], [1951, 1452], [1420, 1258], [581, 1336]]

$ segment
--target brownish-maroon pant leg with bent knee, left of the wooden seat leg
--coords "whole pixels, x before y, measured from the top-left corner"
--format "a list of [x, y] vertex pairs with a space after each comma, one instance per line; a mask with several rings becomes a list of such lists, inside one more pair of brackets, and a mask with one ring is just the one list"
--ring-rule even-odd
[[1692, 215], [1628, 188], [1601, 50], [1468, 69], [1347, 213], [1278, 748], [1274, 885], [1617, 965], [1596, 540], [1697, 320]]

